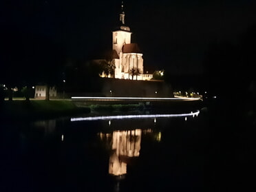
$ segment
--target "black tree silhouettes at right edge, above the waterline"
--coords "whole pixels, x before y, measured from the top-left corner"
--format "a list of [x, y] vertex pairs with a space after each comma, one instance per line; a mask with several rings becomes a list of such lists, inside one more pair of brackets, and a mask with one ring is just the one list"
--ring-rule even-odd
[[205, 87], [220, 96], [228, 107], [255, 110], [256, 25], [241, 34], [237, 42], [212, 43], [204, 59]]

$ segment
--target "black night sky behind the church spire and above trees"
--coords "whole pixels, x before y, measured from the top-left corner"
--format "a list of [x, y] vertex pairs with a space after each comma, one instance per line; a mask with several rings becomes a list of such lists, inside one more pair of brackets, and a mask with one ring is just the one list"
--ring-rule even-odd
[[[202, 74], [211, 43], [235, 43], [256, 23], [253, 0], [129, 0], [124, 6], [125, 23], [133, 32], [131, 42], [142, 50], [145, 68], [172, 74]], [[27, 41], [28, 52], [38, 46], [40, 56], [54, 54], [52, 45], [56, 45], [63, 60], [72, 63], [98, 58], [111, 49], [111, 30], [118, 23], [121, 1], [10, 0], [0, 7], [3, 65], [8, 65], [6, 54], [19, 55]], [[25, 65], [26, 59], [14, 63]]]

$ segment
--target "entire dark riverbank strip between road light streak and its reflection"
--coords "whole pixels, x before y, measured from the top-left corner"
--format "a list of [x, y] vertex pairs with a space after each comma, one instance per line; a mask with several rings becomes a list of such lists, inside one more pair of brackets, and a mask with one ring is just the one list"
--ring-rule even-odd
[[[107, 104], [108, 103], [108, 104]], [[187, 112], [202, 107], [202, 101], [145, 103], [80, 103], [72, 100], [5, 100], [0, 105], [1, 119], [47, 119], [80, 114]]]

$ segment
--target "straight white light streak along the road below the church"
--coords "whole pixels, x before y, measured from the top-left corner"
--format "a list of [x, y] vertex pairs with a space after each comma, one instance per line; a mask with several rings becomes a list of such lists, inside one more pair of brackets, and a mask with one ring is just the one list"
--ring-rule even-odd
[[200, 100], [201, 98], [72, 96], [72, 99], [101, 100]]

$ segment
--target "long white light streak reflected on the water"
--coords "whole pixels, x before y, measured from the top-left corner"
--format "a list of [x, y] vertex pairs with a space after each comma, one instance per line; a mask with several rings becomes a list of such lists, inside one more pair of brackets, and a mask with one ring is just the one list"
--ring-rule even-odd
[[125, 119], [125, 118], [171, 118], [183, 116], [198, 116], [200, 111], [192, 112], [189, 114], [152, 114], [152, 115], [126, 115], [126, 116], [96, 116], [85, 118], [71, 118], [71, 121], [79, 120], [109, 120], [109, 119]]

